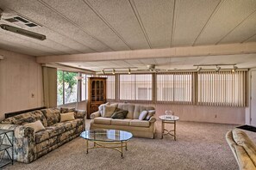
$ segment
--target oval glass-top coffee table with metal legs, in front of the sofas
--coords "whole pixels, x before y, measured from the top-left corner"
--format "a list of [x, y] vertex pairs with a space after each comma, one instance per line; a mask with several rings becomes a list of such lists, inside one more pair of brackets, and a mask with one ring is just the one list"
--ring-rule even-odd
[[[123, 148], [127, 150], [127, 143], [133, 134], [119, 130], [89, 130], [83, 131], [80, 137], [86, 140], [86, 154], [89, 149], [106, 148], [119, 151], [123, 157]], [[89, 141], [93, 143], [91, 148], [89, 148]]]

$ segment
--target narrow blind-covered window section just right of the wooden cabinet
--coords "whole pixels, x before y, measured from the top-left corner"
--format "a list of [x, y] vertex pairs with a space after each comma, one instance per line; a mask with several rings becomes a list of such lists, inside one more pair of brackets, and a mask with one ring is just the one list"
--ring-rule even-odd
[[107, 77], [107, 100], [116, 99], [116, 76], [114, 75], [104, 75], [101, 77]]

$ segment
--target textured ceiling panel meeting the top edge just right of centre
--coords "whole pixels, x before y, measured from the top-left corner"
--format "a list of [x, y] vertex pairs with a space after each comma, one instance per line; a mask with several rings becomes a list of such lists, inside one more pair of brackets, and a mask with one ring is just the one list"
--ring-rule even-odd
[[174, 0], [134, 0], [153, 48], [170, 47]]

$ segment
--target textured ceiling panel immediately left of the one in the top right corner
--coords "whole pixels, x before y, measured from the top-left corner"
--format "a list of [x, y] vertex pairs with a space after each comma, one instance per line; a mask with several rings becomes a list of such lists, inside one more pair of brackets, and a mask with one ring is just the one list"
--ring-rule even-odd
[[172, 46], [192, 46], [221, 0], [180, 0]]

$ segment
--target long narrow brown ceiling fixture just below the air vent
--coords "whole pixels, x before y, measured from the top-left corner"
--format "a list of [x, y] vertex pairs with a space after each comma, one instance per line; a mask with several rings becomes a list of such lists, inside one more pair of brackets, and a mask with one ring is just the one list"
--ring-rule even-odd
[[39, 40], [47, 39], [46, 35], [43, 35], [43, 34], [40, 34], [40, 33], [34, 33], [34, 32], [31, 32], [31, 31], [28, 31], [26, 29], [19, 28], [19, 27], [13, 27], [13, 26], [9, 26], [9, 25], [6, 25], [6, 24], [1, 24], [0, 27], [3, 30], [6, 30], [6, 31], [9, 31], [9, 32], [12, 32], [12, 33], [19, 33], [21, 35], [24, 35], [24, 36], [27, 36], [27, 37], [30, 37], [30, 38], [33, 38], [33, 39], [39, 39]]

